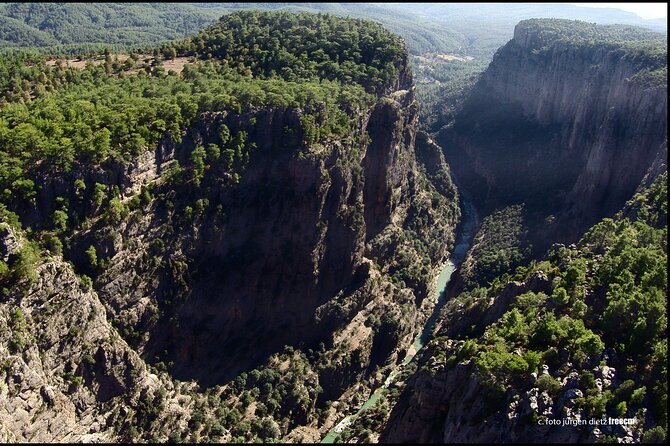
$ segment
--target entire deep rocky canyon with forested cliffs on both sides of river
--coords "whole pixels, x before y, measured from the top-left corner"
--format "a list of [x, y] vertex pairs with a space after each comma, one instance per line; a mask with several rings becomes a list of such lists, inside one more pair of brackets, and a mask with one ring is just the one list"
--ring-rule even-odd
[[[339, 440], [659, 438], [659, 36], [522, 21], [434, 135], [404, 43], [361, 19], [232, 13], [156, 51], [182, 73], [45, 63], [179, 99], [123, 135], [151, 143], [3, 167], [0, 440], [318, 442], [373, 394]], [[8, 106], [0, 143], [52, 105]], [[601, 406], [637, 421], [538, 427]]]

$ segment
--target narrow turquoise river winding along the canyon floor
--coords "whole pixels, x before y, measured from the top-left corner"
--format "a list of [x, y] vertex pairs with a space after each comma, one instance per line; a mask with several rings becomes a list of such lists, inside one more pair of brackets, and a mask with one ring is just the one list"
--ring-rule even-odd
[[382, 396], [384, 389], [388, 388], [388, 386], [395, 381], [396, 376], [398, 376], [403, 368], [414, 359], [419, 350], [421, 350], [426, 342], [428, 342], [430, 333], [433, 331], [433, 327], [435, 327], [435, 323], [440, 315], [440, 310], [447, 302], [447, 285], [451, 280], [452, 274], [456, 271], [457, 266], [460, 265], [465, 258], [465, 254], [468, 252], [470, 243], [472, 242], [472, 237], [479, 226], [479, 215], [477, 214], [475, 207], [472, 205], [472, 201], [467, 192], [461, 191], [461, 199], [463, 200], [463, 205], [461, 206], [462, 215], [458, 236], [456, 237], [456, 245], [451, 253], [451, 257], [437, 278], [437, 286], [435, 287], [435, 299], [437, 303], [435, 304], [433, 313], [428, 318], [428, 321], [426, 321], [426, 325], [424, 325], [421, 333], [414, 339], [412, 348], [408, 350], [402, 363], [398, 364], [398, 366], [391, 371], [386, 378], [386, 381], [384, 381], [384, 384], [372, 393], [370, 398], [360, 407], [360, 409], [358, 409], [358, 411], [356, 411], [356, 413], [344, 417], [335, 425], [335, 427], [328, 431], [326, 436], [321, 440], [321, 443], [334, 443], [342, 431], [349, 426], [361, 412], [374, 406]]

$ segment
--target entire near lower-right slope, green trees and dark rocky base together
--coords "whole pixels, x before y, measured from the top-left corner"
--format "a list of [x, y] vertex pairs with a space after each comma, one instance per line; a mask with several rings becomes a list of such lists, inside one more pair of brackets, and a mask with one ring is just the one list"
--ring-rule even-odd
[[578, 245], [454, 298], [381, 441], [663, 442], [667, 166], [649, 181]]

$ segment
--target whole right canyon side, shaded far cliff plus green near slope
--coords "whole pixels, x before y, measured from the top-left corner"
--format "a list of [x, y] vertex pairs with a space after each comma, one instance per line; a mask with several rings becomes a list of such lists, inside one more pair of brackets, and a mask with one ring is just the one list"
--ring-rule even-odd
[[[498, 51], [442, 135], [447, 156], [485, 209], [524, 203], [540, 247], [580, 240], [451, 296], [381, 442], [665, 439], [665, 54], [646, 32], [554, 20], [521, 22]], [[465, 279], [511, 246], [486, 233]]]

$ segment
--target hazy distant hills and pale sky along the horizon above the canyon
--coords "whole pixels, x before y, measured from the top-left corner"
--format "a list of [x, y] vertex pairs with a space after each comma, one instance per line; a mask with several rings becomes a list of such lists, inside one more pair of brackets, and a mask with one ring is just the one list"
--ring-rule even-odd
[[529, 18], [627, 24], [667, 32], [667, 21], [615, 8], [555, 4], [465, 3], [7, 3], [0, 5], [0, 48], [76, 52], [82, 44], [149, 46], [195, 33], [240, 9], [326, 12], [376, 20], [407, 42], [410, 53], [458, 52], [491, 57]]

